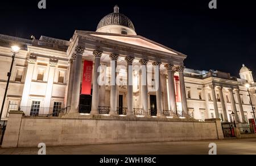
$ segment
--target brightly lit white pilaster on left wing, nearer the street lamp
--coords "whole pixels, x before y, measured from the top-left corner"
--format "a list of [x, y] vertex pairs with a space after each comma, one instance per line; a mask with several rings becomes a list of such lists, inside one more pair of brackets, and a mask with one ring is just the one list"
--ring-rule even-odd
[[30, 86], [31, 86], [32, 76], [34, 73], [35, 63], [36, 63], [36, 60], [34, 59], [28, 59], [27, 61], [28, 61], [27, 73], [26, 73], [26, 79], [24, 82], [22, 101], [20, 102], [20, 106], [28, 106], [28, 96], [30, 94]]

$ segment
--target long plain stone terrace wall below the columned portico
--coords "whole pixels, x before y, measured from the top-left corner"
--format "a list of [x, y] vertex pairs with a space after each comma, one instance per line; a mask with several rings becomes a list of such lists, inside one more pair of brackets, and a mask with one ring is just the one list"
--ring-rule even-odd
[[[7, 127], [8, 125], [9, 122]], [[138, 121], [138, 118], [110, 117], [105, 119], [23, 117], [18, 143], [8, 143], [7, 134], [2, 147], [16, 147], [17, 144], [18, 147], [36, 147], [41, 142], [46, 143], [47, 146], [68, 146], [218, 139], [220, 131], [217, 130], [220, 128], [217, 127], [219, 126], [216, 122], [174, 121], [166, 118]]]

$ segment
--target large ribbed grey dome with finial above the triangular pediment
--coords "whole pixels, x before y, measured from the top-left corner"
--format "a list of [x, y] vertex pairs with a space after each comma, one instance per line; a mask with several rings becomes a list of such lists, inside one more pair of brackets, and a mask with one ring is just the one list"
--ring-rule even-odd
[[114, 7], [114, 13], [110, 13], [101, 19], [100, 23], [98, 23], [97, 31], [100, 31], [102, 28], [107, 26], [125, 27], [125, 30], [127, 28], [128, 31], [133, 31], [135, 33], [133, 23], [127, 16], [119, 13], [119, 7], [117, 5]]

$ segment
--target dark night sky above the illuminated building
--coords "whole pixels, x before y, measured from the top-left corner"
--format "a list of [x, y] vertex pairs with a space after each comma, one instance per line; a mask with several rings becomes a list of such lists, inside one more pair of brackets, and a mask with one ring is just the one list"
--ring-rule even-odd
[[185, 66], [215, 69], [238, 76], [244, 63], [256, 76], [256, 3], [244, 0], [176, 1], [60, 1], [0, 3], [0, 33], [29, 39], [40, 35], [69, 40], [75, 30], [96, 31], [98, 22], [113, 12], [134, 23], [138, 35], [188, 55]]

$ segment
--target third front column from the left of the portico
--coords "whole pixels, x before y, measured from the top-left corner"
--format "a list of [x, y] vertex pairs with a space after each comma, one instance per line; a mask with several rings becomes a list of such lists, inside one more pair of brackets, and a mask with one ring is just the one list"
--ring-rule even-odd
[[117, 83], [115, 81], [115, 78], [117, 78], [117, 73], [115, 72], [115, 70], [117, 69], [118, 55], [115, 53], [111, 53], [109, 55], [109, 57], [111, 59], [111, 64], [110, 64], [111, 65], [110, 114], [117, 115]]

